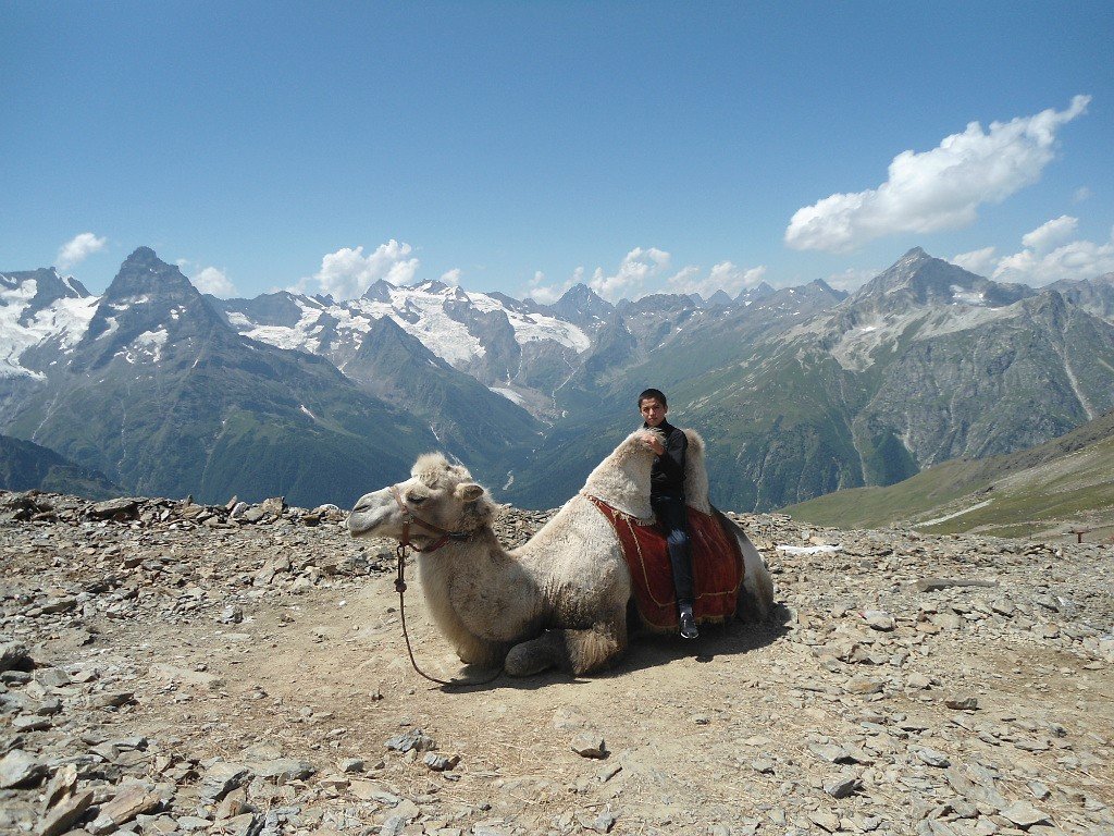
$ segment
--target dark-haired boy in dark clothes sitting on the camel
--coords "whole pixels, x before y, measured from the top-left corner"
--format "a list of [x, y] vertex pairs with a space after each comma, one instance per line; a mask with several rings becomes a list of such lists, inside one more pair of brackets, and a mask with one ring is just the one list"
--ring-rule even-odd
[[661, 430], [665, 436], [664, 445], [653, 432], [646, 432], [642, 439], [657, 456], [649, 477], [649, 504], [657, 522], [665, 528], [665, 542], [673, 566], [673, 586], [677, 593], [681, 635], [695, 639], [700, 632], [696, 630], [696, 619], [693, 618], [692, 545], [685, 511], [685, 449], [688, 447], [688, 438], [665, 420], [670, 406], [659, 389], [647, 389], [638, 396], [638, 411], [645, 421], [643, 427]]

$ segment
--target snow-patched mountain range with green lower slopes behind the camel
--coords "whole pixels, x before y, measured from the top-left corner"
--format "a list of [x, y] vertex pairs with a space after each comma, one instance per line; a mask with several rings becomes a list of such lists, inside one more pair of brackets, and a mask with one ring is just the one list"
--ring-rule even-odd
[[656, 386], [705, 437], [713, 500], [771, 509], [1012, 453], [1114, 407], [1114, 275], [1044, 289], [920, 249], [848, 295], [554, 304], [441, 282], [354, 300], [202, 295], [140, 247], [105, 294], [0, 274], [0, 431], [133, 493], [351, 504], [443, 449], [553, 507]]

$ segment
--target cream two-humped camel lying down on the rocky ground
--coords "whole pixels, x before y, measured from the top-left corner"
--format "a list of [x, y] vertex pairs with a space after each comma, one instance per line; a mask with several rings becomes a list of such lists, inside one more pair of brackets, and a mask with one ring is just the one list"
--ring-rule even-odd
[[[439, 453], [420, 456], [405, 482], [360, 497], [349, 531], [354, 537], [409, 537], [420, 552], [419, 579], [433, 621], [462, 662], [488, 668], [501, 663], [515, 677], [551, 667], [574, 675], [593, 673], [626, 650], [632, 592], [618, 537], [585, 495], [653, 522], [654, 454], [642, 441], [644, 432], [638, 429], [624, 439], [592, 472], [580, 493], [514, 551], [502, 547], [491, 527], [501, 506], [466, 467]], [[703, 439], [693, 430], [685, 432], [688, 504], [713, 513]], [[773, 604], [766, 566], [746, 534], [720, 517], [743, 554], [745, 576], [735, 618], [764, 620]]]

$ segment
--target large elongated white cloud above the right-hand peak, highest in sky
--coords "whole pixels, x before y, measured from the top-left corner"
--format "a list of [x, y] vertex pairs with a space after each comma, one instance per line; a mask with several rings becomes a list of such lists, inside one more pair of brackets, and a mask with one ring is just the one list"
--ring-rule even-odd
[[1036, 183], [1056, 150], [1056, 132], [1086, 111], [1089, 96], [1075, 96], [1063, 111], [1042, 110], [989, 132], [973, 121], [931, 150], [898, 154], [878, 188], [833, 194], [799, 208], [785, 230], [794, 250], [847, 252], [899, 232], [967, 226], [983, 203], [1000, 203]]

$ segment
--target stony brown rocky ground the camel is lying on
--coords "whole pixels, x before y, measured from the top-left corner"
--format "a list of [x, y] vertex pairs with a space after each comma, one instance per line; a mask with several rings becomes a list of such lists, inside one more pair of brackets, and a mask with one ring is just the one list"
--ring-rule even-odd
[[0, 833], [1114, 834], [1112, 546], [741, 516], [774, 622], [444, 689], [391, 544], [231, 505], [0, 494]]

